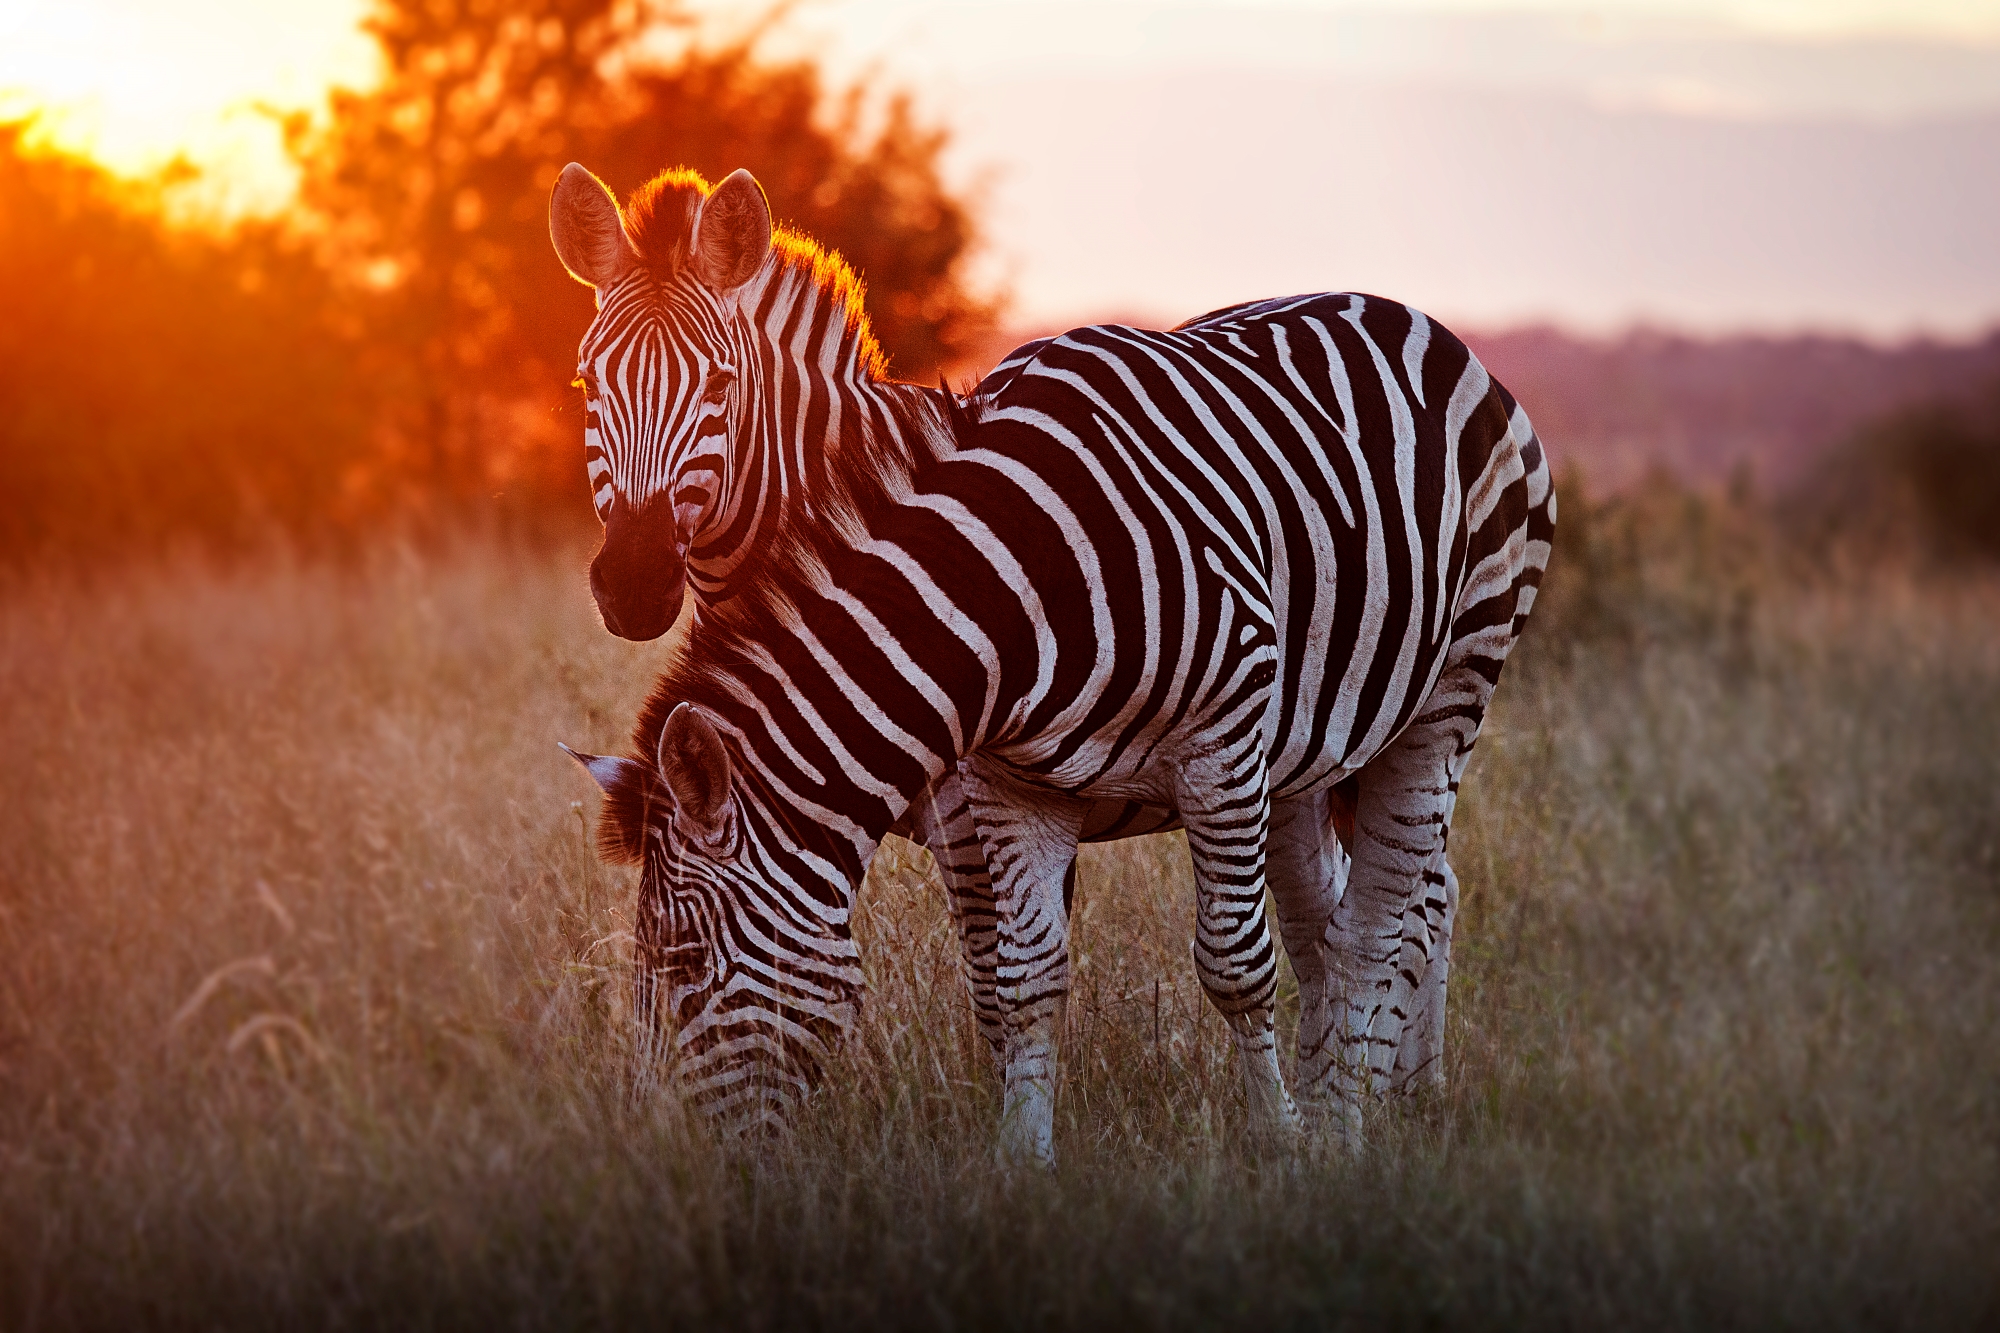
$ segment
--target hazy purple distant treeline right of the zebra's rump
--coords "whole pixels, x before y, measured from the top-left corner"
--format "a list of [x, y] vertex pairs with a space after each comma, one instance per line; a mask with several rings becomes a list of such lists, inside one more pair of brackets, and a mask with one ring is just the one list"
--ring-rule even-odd
[[[2000, 330], [1978, 342], [1468, 338], [1604, 494], [1750, 496], [1812, 552], [2000, 558]], [[1572, 506], [1574, 508], [1574, 506]]]

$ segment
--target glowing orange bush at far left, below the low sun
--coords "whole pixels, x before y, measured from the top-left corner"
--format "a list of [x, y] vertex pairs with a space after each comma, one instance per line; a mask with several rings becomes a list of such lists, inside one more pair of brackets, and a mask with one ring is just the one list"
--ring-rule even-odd
[[274, 226], [174, 232], [158, 190], [0, 126], [0, 560], [338, 522], [368, 388]]

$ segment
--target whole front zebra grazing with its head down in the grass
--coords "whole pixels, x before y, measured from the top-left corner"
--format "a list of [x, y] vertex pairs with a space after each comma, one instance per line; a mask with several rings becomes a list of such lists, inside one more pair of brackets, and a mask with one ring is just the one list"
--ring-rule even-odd
[[[710, 236], [704, 210], [694, 244], [770, 244], [736, 216]], [[774, 286], [794, 326], [852, 308], [770, 256], [734, 308]], [[676, 330], [684, 364], [734, 364], [726, 322]], [[956, 765], [994, 873], [1014, 1153], [1050, 1155], [1062, 881], [1092, 801], [1186, 825], [1196, 967], [1276, 1129], [1296, 1113], [1268, 883], [1302, 1087], [1352, 1137], [1438, 939], [1458, 779], [1548, 556], [1526, 416], [1462, 342], [1366, 296], [1076, 330], [976, 418], [902, 402], [880, 434], [816, 434], [832, 484], [700, 606], [644, 759], [594, 769], [644, 863], [640, 1003], [688, 1095], [744, 1123], [810, 1085], [860, 999], [854, 885]], [[1354, 867], [1332, 903], [1314, 857], [1348, 777]]]

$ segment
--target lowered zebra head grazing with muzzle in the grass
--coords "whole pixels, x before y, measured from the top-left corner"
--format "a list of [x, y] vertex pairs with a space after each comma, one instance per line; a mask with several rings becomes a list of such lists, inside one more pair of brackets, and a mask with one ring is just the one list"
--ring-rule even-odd
[[640, 1045], [724, 1127], [782, 1125], [860, 1011], [852, 885], [766, 827], [694, 705], [666, 717], [656, 765], [570, 755], [604, 789], [600, 851], [642, 867]]

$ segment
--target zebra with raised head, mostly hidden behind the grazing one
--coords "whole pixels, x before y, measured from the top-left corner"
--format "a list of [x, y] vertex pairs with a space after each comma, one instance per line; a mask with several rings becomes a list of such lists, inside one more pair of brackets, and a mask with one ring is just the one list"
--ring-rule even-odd
[[[794, 504], [838, 492], [836, 458], [870, 456], [872, 440], [922, 428], [916, 422], [938, 428], [958, 406], [942, 388], [884, 380], [852, 274], [810, 242], [774, 232], [748, 172], [714, 190], [694, 172], [664, 172], [620, 212], [602, 182], [572, 164], [550, 198], [550, 238], [598, 292], [578, 380], [604, 522], [590, 586], [614, 634], [664, 634], [686, 590], [696, 602], [726, 600]], [[1002, 362], [978, 394], [996, 396], [1040, 346]], [[1312, 833], [1320, 891], [1338, 899], [1346, 857], [1336, 827], [1340, 815], [1352, 823], [1352, 793], [1332, 805], [1334, 819]], [[1178, 827], [1166, 809], [1098, 801], [1082, 839]], [[992, 885], [956, 771], [894, 831], [938, 859], [974, 1013], [998, 1059]], [[1426, 975], [1422, 1019], [1408, 1029], [1398, 1085], [1442, 1073], [1450, 907], [1440, 927], [1446, 939]]]

